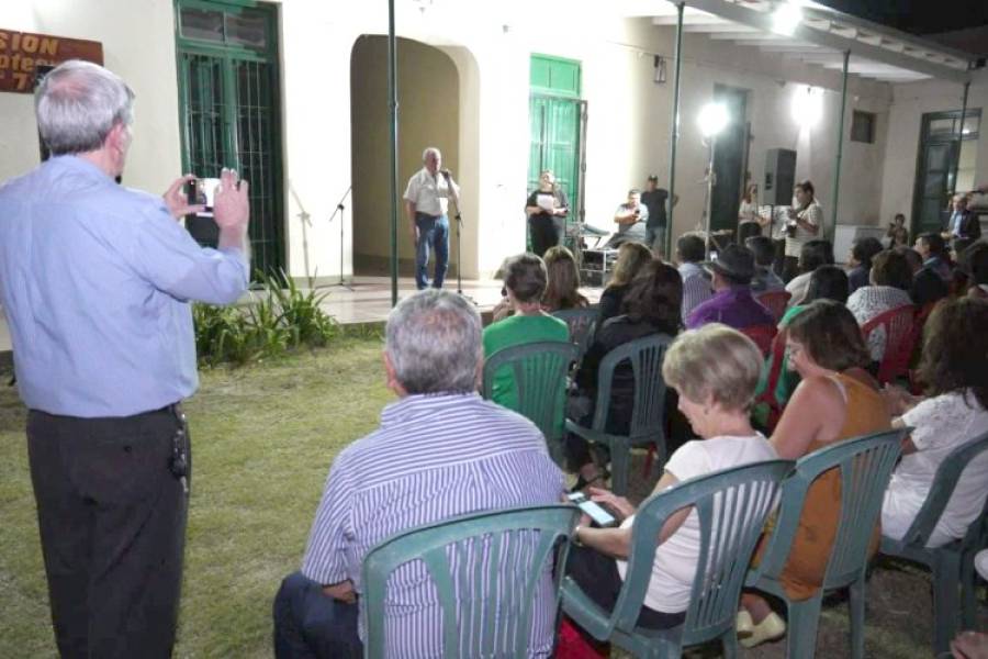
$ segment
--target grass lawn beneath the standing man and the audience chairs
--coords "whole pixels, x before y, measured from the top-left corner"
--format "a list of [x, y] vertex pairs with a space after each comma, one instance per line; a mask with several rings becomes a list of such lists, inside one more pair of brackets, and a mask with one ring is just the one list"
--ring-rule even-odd
[[[271, 601], [297, 569], [337, 451], [378, 425], [381, 342], [347, 338], [325, 350], [202, 373], [189, 401], [194, 478], [178, 657], [271, 657]], [[0, 657], [54, 657], [55, 644], [16, 392], [0, 387]], [[641, 473], [641, 456], [632, 474]], [[632, 480], [639, 498], [654, 482]], [[880, 562], [868, 584], [866, 656], [930, 657], [930, 582]], [[988, 615], [983, 606], [980, 628]], [[742, 651], [781, 659], [785, 644]], [[716, 657], [716, 652], [699, 652]], [[846, 605], [824, 607], [818, 657], [847, 656]]]

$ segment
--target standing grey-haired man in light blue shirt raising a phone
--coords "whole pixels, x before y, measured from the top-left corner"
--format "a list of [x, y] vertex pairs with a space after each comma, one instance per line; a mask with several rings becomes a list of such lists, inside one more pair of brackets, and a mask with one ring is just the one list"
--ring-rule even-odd
[[52, 158], [0, 187], [0, 300], [10, 323], [52, 619], [63, 657], [169, 657], [178, 619], [198, 386], [190, 300], [247, 288], [247, 183], [224, 170], [220, 248], [161, 197], [114, 181], [134, 93], [70, 60], [35, 109]]

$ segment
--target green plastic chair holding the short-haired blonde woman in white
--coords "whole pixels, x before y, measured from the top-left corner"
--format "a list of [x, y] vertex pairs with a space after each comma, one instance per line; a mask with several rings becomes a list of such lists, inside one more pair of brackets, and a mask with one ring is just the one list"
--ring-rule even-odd
[[[777, 500], [791, 460], [770, 460], [726, 469], [677, 483], [652, 494], [635, 514], [631, 556], [625, 583], [608, 612], [570, 578], [563, 583], [563, 611], [594, 638], [609, 640], [637, 657], [680, 657], [683, 648], [719, 639], [725, 657], [738, 655], [734, 629], [748, 563]], [[694, 506], [699, 516], [700, 548], [686, 619], [672, 629], [638, 627], [637, 621], [655, 562], [656, 540], [665, 521]]]

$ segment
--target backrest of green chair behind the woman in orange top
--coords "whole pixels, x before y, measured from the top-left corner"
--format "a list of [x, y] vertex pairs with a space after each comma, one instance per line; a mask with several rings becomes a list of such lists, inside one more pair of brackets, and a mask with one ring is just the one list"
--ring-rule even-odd
[[885, 490], [908, 433], [909, 428], [898, 428], [846, 439], [800, 458], [783, 487], [778, 522], [749, 584], [761, 577], [779, 578], [799, 528], [807, 492], [831, 469], [839, 469], [841, 474], [841, 514], [822, 587], [842, 588], [860, 578], [867, 566]]

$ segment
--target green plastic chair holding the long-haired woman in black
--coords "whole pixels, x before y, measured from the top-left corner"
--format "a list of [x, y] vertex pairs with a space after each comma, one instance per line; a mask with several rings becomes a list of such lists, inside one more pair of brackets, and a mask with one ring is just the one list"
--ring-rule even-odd
[[[672, 337], [653, 334], [616, 347], [600, 360], [597, 371], [597, 401], [592, 427], [566, 420], [566, 429], [587, 442], [603, 444], [610, 449], [610, 465], [616, 494], [628, 492], [631, 470], [631, 447], [652, 446], [659, 465], [665, 463], [665, 381], [662, 379], [662, 360]], [[610, 387], [614, 371], [625, 360], [631, 361], [635, 373], [635, 401], [628, 435], [606, 432], [610, 414]]]

